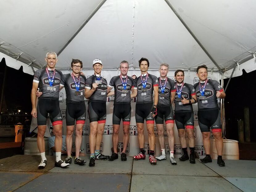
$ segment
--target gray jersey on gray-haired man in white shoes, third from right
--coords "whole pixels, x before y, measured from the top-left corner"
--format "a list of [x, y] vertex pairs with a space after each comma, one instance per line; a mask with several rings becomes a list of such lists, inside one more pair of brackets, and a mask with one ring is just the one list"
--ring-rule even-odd
[[[167, 77], [167, 81], [166, 81], [166, 78], [165, 79], [157, 78], [157, 79], [158, 79], [158, 104], [157, 105], [165, 106], [165, 107], [171, 106], [171, 92], [176, 91], [174, 80], [171, 80], [168, 77]], [[166, 84], [165, 84], [165, 81], [166, 81]], [[162, 85], [162, 88], [165, 84], [164, 93], [162, 93], [161, 91], [160, 83]]]

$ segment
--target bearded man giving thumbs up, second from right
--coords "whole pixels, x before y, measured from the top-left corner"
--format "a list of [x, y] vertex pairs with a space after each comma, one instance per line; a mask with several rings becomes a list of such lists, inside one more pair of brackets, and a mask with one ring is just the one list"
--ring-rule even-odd
[[[184, 83], [184, 71], [177, 70], [174, 73], [176, 80], [175, 95], [175, 123], [179, 132], [180, 144], [183, 155], [180, 161], [189, 159], [190, 163], [196, 163], [195, 160], [195, 138], [194, 138], [194, 114], [192, 104], [196, 103], [196, 93], [193, 85]], [[188, 134], [188, 145], [190, 157], [188, 157], [187, 141], [185, 138], [185, 127]]]

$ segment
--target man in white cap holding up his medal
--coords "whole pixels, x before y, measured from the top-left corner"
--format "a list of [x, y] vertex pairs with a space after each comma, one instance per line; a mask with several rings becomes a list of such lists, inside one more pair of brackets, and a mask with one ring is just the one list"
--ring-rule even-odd
[[85, 81], [85, 98], [88, 101], [88, 114], [90, 121], [90, 162], [95, 166], [95, 158], [106, 160], [109, 156], [100, 153], [102, 134], [106, 123], [107, 81], [101, 76], [103, 65], [100, 59], [93, 60], [94, 74]]

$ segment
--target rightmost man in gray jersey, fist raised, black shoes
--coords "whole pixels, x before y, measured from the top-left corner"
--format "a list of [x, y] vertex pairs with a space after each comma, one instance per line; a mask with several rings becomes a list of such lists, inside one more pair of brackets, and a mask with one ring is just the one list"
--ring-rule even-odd
[[200, 159], [203, 163], [212, 162], [210, 156], [210, 128], [212, 128], [218, 153], [217, 164], [225, 166], [222, 160], [223, 140], [221, 135], [221, 112], [217, 103], [217, 97], [226, 97], [223, 88], [216, 80], [207, 78], [208, 72], [206, 65], [200, 65], [196, 69], [199, 82], [194, 85], [198, 103], [198, 123], [203, 135], [204, 149], [206, 157]]

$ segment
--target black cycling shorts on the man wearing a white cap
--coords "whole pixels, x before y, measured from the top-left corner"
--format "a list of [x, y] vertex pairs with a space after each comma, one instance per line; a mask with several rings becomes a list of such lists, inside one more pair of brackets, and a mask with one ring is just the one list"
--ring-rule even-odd
[[98, 121], [98, 123], [106, 123], [106, 103], [91, 101], [88, 104], [88, 115], [90, 123]]

